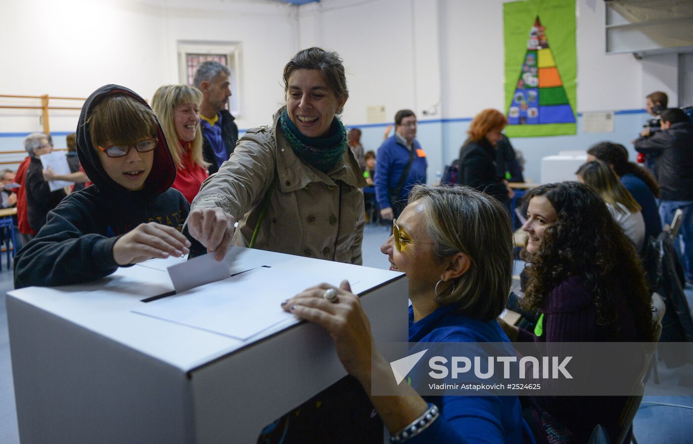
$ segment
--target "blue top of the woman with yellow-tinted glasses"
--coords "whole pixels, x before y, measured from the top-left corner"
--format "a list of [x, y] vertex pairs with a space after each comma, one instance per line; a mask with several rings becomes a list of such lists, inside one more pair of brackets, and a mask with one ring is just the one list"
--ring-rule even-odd
[[[509, 342], [498, 322], [455, 313], [445, 305], [418, 322], [409, 309], [410, 342]], [[407, 443], [535, 443], [517, 396], [430, 396], [440, 408], [430, 427]]]

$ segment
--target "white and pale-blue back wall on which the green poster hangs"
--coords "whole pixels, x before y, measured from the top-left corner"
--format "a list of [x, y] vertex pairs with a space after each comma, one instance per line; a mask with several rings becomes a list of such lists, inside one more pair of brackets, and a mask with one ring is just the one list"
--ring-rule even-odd
[[[364, 127], [367, 149], [378, 147], [383, 133], [382, 127], [364, 125], [369, 105], [385, 105], [388, 121], [401, 108], [414, 109], [420, 121], [435, 121], [419, 126], [433, 181], [435, 172], [457, 157], [466, 137], [464, 121], [481, 109], [505, 107], [506, 1], [322, 0], [299, 9], [300, 42], [344, 57], [352, 75], [344, 121]], [[577, 0], [576, 9], [577, 112], [642, 109], [644, 96], [657, 89], [676, 100], [676, 55], [643, 60], [606, 55], [604, 0]], [[424, 115], [424, 110], [437, 112]], [[619, 116], [613, 133], [585, 134], [579, 118], [575, 136], [518, 138], [516, 145], [529, 161], [529, 177], [538, 181], [541, 157], [602, 140], [631, 148], [644, 119], [644, 114]]]

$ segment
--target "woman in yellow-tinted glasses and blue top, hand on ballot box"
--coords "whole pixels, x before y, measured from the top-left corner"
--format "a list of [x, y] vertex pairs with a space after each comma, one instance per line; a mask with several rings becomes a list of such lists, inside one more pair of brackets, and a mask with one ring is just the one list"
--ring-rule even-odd
[[[466, 187], [415, 186], [409, 202], [380, 247], [390, 269], [409, 278], [409, 341], [508, 342], [496, 321], [511, 282], [505, 207]], [[283, 309], [327, 330], [344, 368], [370, 396], [371, 382], [391, 378], [392, 370], [376, 350], [371, 362], [369, 321], [349, 290], [347, 281], [340, 288], [318, 285]], [[534, 442], [515, 396], [422, 398], [402, 385], [405, 396], [370, 396], [392, 442]]]

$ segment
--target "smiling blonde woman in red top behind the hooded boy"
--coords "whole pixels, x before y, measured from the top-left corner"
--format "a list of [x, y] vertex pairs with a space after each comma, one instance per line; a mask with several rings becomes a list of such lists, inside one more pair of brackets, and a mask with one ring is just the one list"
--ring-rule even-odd
[[176, 166], [172, 187], [183, 193], [188, 202], [193, 202], [208, 176], [207, 163], [202, 159], [200, 103], [202, 93], [188, 85], [166, 85], [152, 97], [152, 109], [164, 129]]

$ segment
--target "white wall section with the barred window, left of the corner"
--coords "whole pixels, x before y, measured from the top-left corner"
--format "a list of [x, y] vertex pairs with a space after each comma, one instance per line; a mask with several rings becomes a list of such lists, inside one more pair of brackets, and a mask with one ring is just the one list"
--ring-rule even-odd
[[[296, 8], [270, 1], [1, 0], [0, 10], [0, 94], [87, 97], [117, 83], [150, 98], [180, 82], [179, 40], [241, 42], [240, 127], [270, 121], [298, 46]], [[41, 130], [39, 115], [0, 109], [0, 132]], [[77, 116], [51, 112], [51, 131], [74, 130]]]

